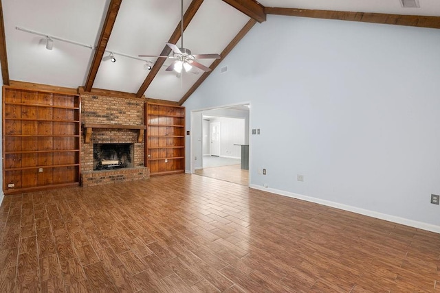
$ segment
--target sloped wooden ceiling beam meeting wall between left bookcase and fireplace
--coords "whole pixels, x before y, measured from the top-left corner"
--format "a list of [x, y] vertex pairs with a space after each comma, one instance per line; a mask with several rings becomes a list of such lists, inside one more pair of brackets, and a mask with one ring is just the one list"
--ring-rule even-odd
[[111, 31], [113, 30], [113, 25], [115, 24], [116, 16], [118, 16], [121, 3], [122, 0], [111, 0], [110, 2], [109, 10], [107, 10], [107, 16], [105, 16], [104, 25], [102, 26], [98, 46], [95, 50], [94, 60], [91, 62], [89, 76], [87, 77], [87, 81], [84, 86], [85, 91], [91, 91], [91, 88], [94, 85], [96, 74], [98, 73], [107, 43], [109, 43]]

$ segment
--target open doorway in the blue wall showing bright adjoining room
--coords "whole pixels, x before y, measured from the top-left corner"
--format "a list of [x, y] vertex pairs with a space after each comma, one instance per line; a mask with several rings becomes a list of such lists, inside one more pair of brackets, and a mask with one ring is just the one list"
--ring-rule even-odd
[[199, 133], [197, 127], [196, 132], [192, 130], [194, 174], [249, 185], [249, 154], [244, 157], [241, 150], [243, 145], [249, 148], [249, 115], [249, 104], [202, 110], [194, 115], [197, 118], [192, 125], [199, 125]]

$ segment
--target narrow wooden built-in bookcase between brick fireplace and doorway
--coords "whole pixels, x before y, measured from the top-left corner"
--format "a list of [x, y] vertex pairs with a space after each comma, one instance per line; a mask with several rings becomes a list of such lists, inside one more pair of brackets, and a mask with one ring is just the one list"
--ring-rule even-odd
[[150, 176], [185, 172], [185, 108], [153, 103], [145, 108]]

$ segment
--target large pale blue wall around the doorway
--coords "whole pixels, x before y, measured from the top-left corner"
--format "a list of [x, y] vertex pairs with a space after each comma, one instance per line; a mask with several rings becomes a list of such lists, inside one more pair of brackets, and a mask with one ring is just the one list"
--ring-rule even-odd
[[252, 187], [440, 232], [439, 52], [440, 30], [267, 16], [184, 106], [250, 101]]

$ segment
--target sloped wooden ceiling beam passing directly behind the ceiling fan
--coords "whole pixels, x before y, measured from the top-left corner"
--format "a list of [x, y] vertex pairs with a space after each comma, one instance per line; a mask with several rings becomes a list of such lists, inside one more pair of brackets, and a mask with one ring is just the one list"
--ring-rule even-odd
[[[186, 30], [186, 27], [188, 27], [188, 24], [192, 21], [192, 18], [195, 16], [197, 10], [199, 10], [201, 3], [203, 3], [203, 0], [192, 0], [190, 3], [188, 9], [186, 10], [184, 14], [184, 31]], [[170, 39], [168, 40], [168, 43], [177, 43], [181, 36], [181, 27], [180, 27], [180, 21], [177, 27], [175, 28], [173, 34], [171, 35]], [[170, 47], [165, 45], [162, 52], [159, 54], [160, 56], [168, 56], [170, 54]], [[137, 91], [137, 97], [142, 97], [144, 95], [146, 89], [148, 89], [148, 86], [150, 86], [151, 82], [153, 82], [154, 78], [156, 77], [159, 70], [162, 68], [162, 65], [164, 65], [166, 58], [157, 58], [155, 64], [153, 65], [153, 68], [150, 70], [148, 75], [146, 75], [146, 78], [144, 82], [142, 82], [142, 85], [139, 88], [139, 91]]]

